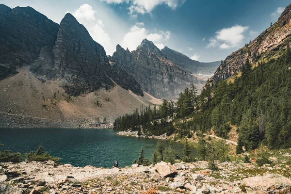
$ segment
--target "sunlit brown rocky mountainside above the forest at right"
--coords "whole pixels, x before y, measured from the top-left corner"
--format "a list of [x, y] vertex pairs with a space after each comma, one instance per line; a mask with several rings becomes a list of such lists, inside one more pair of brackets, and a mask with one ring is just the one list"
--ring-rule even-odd
[[250, 63], [258, 65], [271, 58], [280, 56], [291, 40], [291, 5], [287, 6], [278, 21], [262, 32], [243, 48], [231, 53], [217, 68], [212, 80], [225, 80], [242, 70], [248, 58]]

